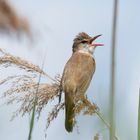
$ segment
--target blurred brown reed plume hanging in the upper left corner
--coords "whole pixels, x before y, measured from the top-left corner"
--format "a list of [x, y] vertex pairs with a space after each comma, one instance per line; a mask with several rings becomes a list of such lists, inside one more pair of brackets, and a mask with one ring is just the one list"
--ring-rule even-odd
[[31, 37], [29, 23], [26, 18], [17, 14], [8, 0], [0, 0], [0, 32], [2, 33], [25, 33]]

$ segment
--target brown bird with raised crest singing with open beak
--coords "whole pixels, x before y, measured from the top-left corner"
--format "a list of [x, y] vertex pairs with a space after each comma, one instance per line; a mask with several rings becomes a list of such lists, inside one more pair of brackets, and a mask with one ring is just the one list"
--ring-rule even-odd
[[99, 36], [92, 38], [84, 32], [79, 33], [74, 39], [72, 56], [64, 68], [61, 85], [65, 93], [65, 128], [68, 132], [73, 130], [77, 98], [84, 96], [95, 72], [93, 53], [103, 44], [93, 42]]

